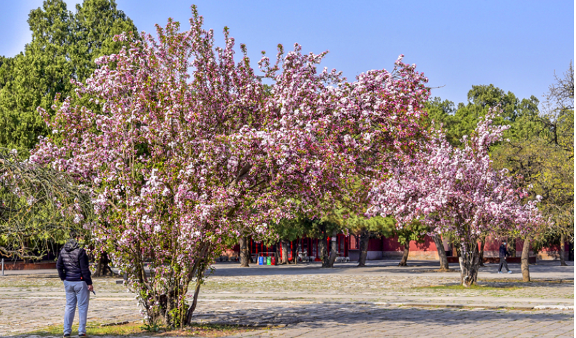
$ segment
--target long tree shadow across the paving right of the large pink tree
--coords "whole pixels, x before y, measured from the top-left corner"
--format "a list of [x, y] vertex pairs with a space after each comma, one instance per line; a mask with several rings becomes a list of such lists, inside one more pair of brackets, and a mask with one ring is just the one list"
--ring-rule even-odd
[[[224, 304], [221, 304], [224, 305]], [[250, 306], [252, 305], [252, 306]], [[234, 305], [236, 306], [236, 305]], [[378, 305], [343, 305], [322, 303], [312, 305], [258, 305], [243, 304], [241, 308], [221, 307], [219, 310], [203, 310], [201, 305], [195, 321], [209, 323], [244, 324], [254, 326], [279, 326], [305, 324], [306, 326], [330, 326], [358, 323], [414, 323], [425, 325], [459, 326], [468, 323], [510, 323], [516, 321], [550, 323], [572, 321], [573, 311], [568, 310], [488, 310], [454, 309], [448, 307], [384, 307]]]

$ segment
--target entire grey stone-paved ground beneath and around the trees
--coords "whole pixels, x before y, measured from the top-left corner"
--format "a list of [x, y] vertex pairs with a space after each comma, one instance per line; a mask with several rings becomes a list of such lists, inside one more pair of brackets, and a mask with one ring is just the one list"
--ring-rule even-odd
[[[201, 290], [195, 319], [285, 326], [240, 337], [574, 335], [573, 310], [518, 310], [537, 305], [573, 309], [573, 265], [531, 266], [535, 282], [529, 284], [518, 280], [519, 273], [497, 275], [489, 266], [479, 276], [485, 289], [456, 290], [431, 287], [459, 280], [457, 272], [431, 272], [434, 262], [413, 262], [408, 269], [386, 261], [372, 264], [364, 269], [352, 269], [352, 264], [338, 269], [319, 269], [317, 264], [250, 269], [217, 264]], [[1, 337], [62, 323], [65, 296], [55, 271], [8, 273], [0, 276]], [[134, 295], [115, 280], [98, 279], [94, 287], [97, 296], [90, 301], [89, 323], [141, 319]], [[499, 306], [507, 309], [494, 309]]]

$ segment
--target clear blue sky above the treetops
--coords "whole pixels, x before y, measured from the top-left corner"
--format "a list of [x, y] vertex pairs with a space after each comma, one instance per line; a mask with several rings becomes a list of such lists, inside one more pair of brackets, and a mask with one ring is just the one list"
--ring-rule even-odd
[[[140, 31], [172, 17], [188, 27], [194, 0], [117, 0]], [[2, 1], [0, 55], [14, 56], [31, 40], [28, 12], [41, 0]], [[68, 8], [81, 1], [68, 0]], [[349, 79], [390, 69], [399, 54], [428, 76], [433, 96], [466, 102], [472, 85], [493, 84], [520, 99], [541, 96], [574, 59], [574, 3], [553, 1], [204, 1], [195, 0], [205, 28], [229, 26], [247, 44], [253, 67], [277, 44], [329, 50], [326, 67]], [[222, 34], [217, 35], [222, 45]]]

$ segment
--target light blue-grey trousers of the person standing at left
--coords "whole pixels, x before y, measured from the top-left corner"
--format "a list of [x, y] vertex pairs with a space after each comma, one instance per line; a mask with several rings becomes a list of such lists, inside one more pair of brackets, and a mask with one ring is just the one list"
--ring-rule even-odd
[[69, 282], [64, 281], [66, 290], [66, 310], [64, 312], [64, 334], [72, 335], [72, 321], [74, 321], [74, 312], [78, 304], [78, 316], [80, 326], [78, 333], [86, 333], [86, 316], [88, 316], [88, 301], [90, 301], [90, 291], [86, 282]]

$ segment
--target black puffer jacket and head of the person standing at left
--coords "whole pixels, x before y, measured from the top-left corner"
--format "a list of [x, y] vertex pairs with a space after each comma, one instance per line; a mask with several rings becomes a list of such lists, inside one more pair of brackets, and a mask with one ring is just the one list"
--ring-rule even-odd
[[86, 251], [74, 239], [69, 239], [60, 251], [58, 262], [56, 262], [56, 269], [58, 269], [60, 279], [69, 282], [84, 281], [87, 285], [92, 285], [91, 273], [88, 267]]

